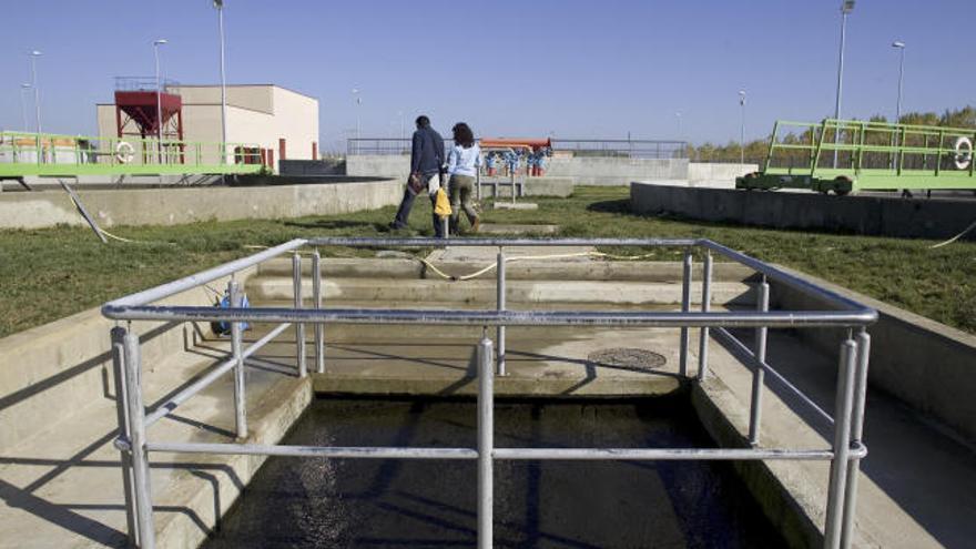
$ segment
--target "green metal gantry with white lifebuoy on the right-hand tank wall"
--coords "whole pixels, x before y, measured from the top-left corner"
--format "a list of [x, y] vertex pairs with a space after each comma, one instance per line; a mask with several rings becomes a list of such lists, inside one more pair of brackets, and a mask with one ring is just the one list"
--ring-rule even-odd
[[735, 179], [746, 191], [820, 193], [976, 190], [976, 129], [825, 119], [776, 121], [760, 172]]

